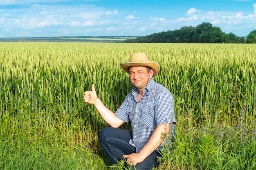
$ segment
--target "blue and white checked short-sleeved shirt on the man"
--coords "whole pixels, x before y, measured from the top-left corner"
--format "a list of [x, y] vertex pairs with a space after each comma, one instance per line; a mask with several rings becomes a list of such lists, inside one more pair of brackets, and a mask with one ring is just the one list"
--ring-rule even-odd
[[[160, 124], [171, 123], [168, 135], [173, 135], [176, 122], [173, 95], [166, 87], [151, 79], [139, 101], [138, 93], [136, 87], [132, 88], [115, 113], [120, 120], [131, 121], [132, 139], [129, 144], [136, 147], [136, 152], [143, 148]], [[156, 150], [163, 149], [166, 138]]]

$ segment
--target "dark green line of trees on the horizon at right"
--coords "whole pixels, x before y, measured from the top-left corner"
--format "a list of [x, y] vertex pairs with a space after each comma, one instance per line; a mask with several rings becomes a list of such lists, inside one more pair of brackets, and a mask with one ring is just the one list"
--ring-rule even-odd
[[154, 33], [144, 37], [128, 39], [129, 43], [256, 43], [256, 30], [245, 37], [238, 37], [234, 33], [222, 32], [220, 27], [204, 22], [193, 26], [184, 26], [179, 30]]

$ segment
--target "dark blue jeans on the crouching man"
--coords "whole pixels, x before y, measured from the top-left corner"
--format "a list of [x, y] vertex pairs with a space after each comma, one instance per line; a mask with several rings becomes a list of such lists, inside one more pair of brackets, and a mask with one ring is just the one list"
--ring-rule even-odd
[[[103, 128], [99, 133], [99, 141], [102, 148], [108, 154], [111, 164], [116, 164], [123, 158], [123, 155], [130, 155], [135, 153], [136, 148], [129, 144], [132, 138], [132, 132], [120, 128]], [[157, 158], [161, 157], [160, 151], [155, 150], [146, 159], [137, 163], [135, 168], [137, 170], [150, 170], [157, 166]], [[133, 168], [133, 167], [132, 167]]]

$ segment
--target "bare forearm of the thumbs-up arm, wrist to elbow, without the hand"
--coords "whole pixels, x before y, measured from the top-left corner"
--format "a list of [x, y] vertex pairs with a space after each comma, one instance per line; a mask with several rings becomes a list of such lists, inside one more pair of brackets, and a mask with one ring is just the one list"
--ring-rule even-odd
[[124, 122], [118, 119], [111, 110], [109, 110], [100, 99], [94, 102], [95, 108], [98, 110], [101, 117], [106, 121], [111, 127], [118, 128]]

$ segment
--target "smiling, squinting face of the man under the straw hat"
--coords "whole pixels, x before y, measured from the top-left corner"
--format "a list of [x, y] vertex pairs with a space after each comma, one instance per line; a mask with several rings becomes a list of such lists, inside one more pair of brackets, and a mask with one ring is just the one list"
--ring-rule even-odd
[[154, 71], [144, 66], [132, 66], [130, 67], [130, 78], [132, 84], [143, 91], [147, 86], [148, 81], [152, 78]]

